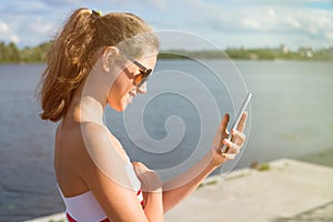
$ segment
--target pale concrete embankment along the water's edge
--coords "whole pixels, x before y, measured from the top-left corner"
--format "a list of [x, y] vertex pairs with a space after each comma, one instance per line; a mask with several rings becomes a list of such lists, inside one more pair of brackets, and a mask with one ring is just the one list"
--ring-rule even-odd
[[[317, 155], [319, 159], [323, 157]], [[235, 222], [309, 221], [311, 216], [333, 220], [333, 168], [294, 159], [266, 164], [269, 168], [263, 171], [244, 168], [226, 178], [208, 178], [192, 195], [165, 214], [165, 222], [183, 221], [184, 218], [193, 222], [220, 221], [222, 216]], [[51, 221], [64, 221], [64, 213], [26, 222]]]

